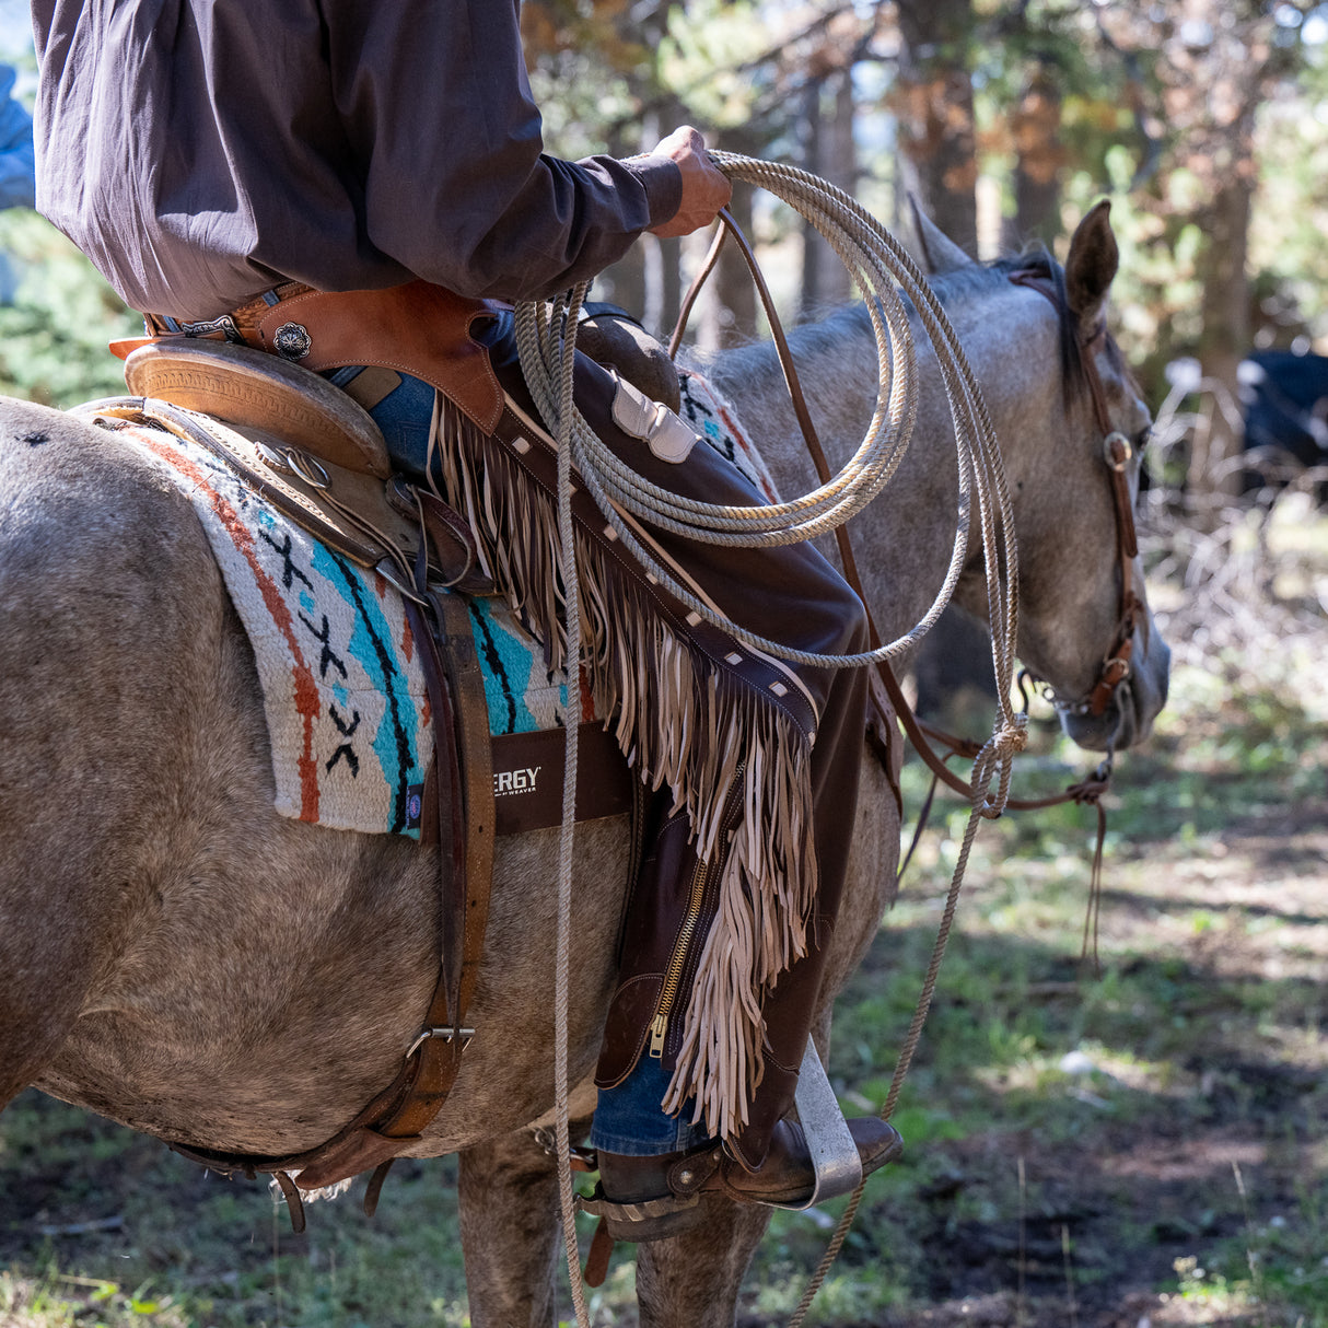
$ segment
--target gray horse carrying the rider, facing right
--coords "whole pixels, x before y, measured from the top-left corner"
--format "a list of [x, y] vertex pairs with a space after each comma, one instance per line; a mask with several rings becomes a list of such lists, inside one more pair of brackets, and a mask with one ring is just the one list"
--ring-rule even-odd
[[[1020, 550], [1020, 652], [1089, 748], [1143, 737], [1167, 651], [1145, 614], [1134, 668], [1101, 716], [1093, 687], [1117, 619], [1116, 534], [1101, 430], [1064, 333], [1102, 317], [1117, 251], [1100, 206], [1080, 226], [1057, 313], [1008, 267], [935, 231], [928, 259], [1004, 444]], [[919, 336], [919, 345], [924, 339]], [[875, 384], [853, 311], [795, 337], [822, 434], [842, 458]], [[1149, 417], [1109, 339], [1094, 343], [1113, 428]], [[768, 348], [708, 365], [785, 493], [810, 474]], [[926, 396], [896, 481], [855, 523], [883, 632], [930, 603], [954, 531], [950, 422]], [[1138, 462], [1133, 462], [1137, 467]], [[1131, 475], [1131, 485], [1137, 474]], [[1142, 578], [1139, 578], [1142, 584]], [[981, 611], [980, 556], [959, 598]], [[113, 436], [17, 401], [0, 406], [0, 1106], [27, 1085], [170, 1141], [280, 1155], [340, 1129], [394, 1076], [437, 968], [434, 870], [398, 837], [320, 830], [272, 809], [254, 660], [185, 498]], [[572, 1116], [612, 989], [627, 827], [579, 830], [572, 920]], [[823, 992], [830, 1003], [887, 904], [899, 819], [865, 758], [854, 866]], [[556, 831], [498, 846], [478, 1029], [416, 1149], [459, 1153], [473, 1321], [548, 1324], [556, 1178], [531, 1125], [550, 1118]], [[708, 1199], [706, 1222], [641, 1247], [643, 1324], [732, 1324], [762, 1210]]]

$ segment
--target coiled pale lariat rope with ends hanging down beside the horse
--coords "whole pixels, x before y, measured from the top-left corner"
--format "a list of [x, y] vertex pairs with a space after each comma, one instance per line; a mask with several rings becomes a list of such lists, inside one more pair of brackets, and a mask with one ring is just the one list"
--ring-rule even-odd
[[[732, 153], [710, 153], [714, 165], [730, 179], [757, 185], [805, 216], [830, 243], [857, 283], [866, 301], [876, 341], [878, 396], [867, 433], [849, 462], [819, 489], [790, 502], [738, 507], [680, 498], [641, 478], [599, 440], [572, 401], [572, 367], [576, 323], [586, 284], [551, 303], [517, 305], [517, 347], [521, 367], [535, 406], [558, 438], [558, 519], [567, 623], [580, 618], [580, 596], [572, 539], [571, 486], [575, 469], [604, 519], [633, 558], [692, 611], [748, 645], [793, 663], [821, 668], [858, 668], [886, 663], [915, 645], [935, 624], [954, 592], [968, 558], [971, 510], [977, 505], [977, 523], [985, 555], [987, 596], [992, 627], [992, 663], [1000, 696], [992, 737], [973, 764], [972, 817], [951, 884], [950, 899], [928, 968], [923, 993], [908, 1038], [900, 1053], [890, 1098], [882, 1110], [888, 1118], [898, 1098], [922, 1024], [926, 1019], [936, 971], [944, 952], [950, 923], [957, 903], [968, 847], [981, 818], [1000, 815], [1009, 791], [1011, 766], [1024, 745], [1023, 714], [1009, 703], [1013, 683], [1017, 628], [1016, 548], [1009, 491], [996, 445], [995, 429], [973, 372], [939, 300], [908, 254], [870, 212], [842, 190], [791, 166], [761, 162]], [[781, 641], [749, 632], [726, 619], [681, 584], [653, 558], [632, 531], [623, 511], [660, 529], [703, 543], [737, 547], [768, 547], [814, 539], [837, 530], [871, 502], [899, 469], [918, 414], [916, 356], [912, 329], [900, 292], [918, 313], [940, 368], [946, 398], [955, 424], [959, 462], [959, 503], [950, 564], [931, 607], [915, 627], [888, 644], [855, 655], [819, 655], [798, 651]], [[567, 632], [568, 697], [579, 693], [580, 632]], [[568, 734], [575, 726], [568, 724]], [[567, 983], [571, 938], [571, 880], [575, 835], [576, 744], [566, 744], [563, 829], [559, 843], [559, 920], [555, 957], [555, 1138], [560, 1171], [563, 1235], [576, 1321], [588, 1328], [582, 1293], [580, 1263], [570, 1169], [567, 1121]], [[997, 788], [992, 794], [995, 780]], [[862, 1193], [859, 1186], [846, 1219], [851, 1219]], [[842, 1220], [831, 1247], [798, 1307], [801, 1323], [811, 1297], [842, 1244], [847, 1220]]]

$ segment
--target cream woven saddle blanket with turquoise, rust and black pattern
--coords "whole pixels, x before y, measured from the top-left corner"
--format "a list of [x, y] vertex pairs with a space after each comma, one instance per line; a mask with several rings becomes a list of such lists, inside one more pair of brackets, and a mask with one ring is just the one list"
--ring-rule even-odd
[[[777, 501], [732, 406], [697, 374], [683, 374], [681, 389], [680, 413], [697, 434]], [[418, 838], [433, 733], [400, 592], [287, 521], [202, 446], [143, 426], [120, 437], [185, 491], [207, 534], [254, 649], [276, 810], [339, 830]], [[567, 725], [566, 676], [546, 665], [502, 599], [474, 598], [467, 608], [490, 732], [556, 736]], [[576, 720], [603, 720], [588, 691]], [[529, 823], [518, 807], [527, 799], [560, 803], [562, 744], [519, 750], [544, 757], [522, 757], [519, 766], [495, 760], [499, 833]]]

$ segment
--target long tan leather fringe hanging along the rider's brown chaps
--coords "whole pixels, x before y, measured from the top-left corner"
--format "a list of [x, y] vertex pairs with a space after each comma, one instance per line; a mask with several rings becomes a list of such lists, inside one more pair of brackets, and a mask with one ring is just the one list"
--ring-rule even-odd
[[[485, 437], [441, 394], [430, 456], [441, 463], [441, 497], [475, 535], [483, 572], [539, 641], [548, 667], [564, 669], [554, 495], [505, 444]], [[643, 574], [606, 555], [580, 526], [575, 544], [583, 668], [596, 712], [608, 716], [606, 728], [644, 782], [668, 788], [675, 810], [687, 810], [697, 857], [713, 862], [728, 849], [718, 912], [664, 1100], [665, 1110], [677, 1112], [695, 1098], [693, 1118], [728, 1138], [745, 1125], [764, 1069], [764, 996], [807, 947], [817, 891], [811, 744], [785, 710], [717, 668], [661, 618], [659, 592]], [[725, 846], [717, 839], [734, 782], [742, 814]]]

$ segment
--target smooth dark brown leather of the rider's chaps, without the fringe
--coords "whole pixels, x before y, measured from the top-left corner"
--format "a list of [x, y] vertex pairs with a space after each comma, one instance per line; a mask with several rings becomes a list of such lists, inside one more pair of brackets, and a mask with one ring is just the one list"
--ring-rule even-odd
[[[681, 463], [665, 462], [612, 424], [604, 404], [614, 380], [586, 363], [578, 374], [578, 401], [596, 433], [632, 466], [661, 487], [710, 503], [764, 502], [749, 482], [710, 448], [699, 445]], [[598, 408], [596, 408], [598, 402]], [[774, 548], [725, 548], [651, 530], [656, 542], [685, 568], [705, 595], [742, 627], [814, 653], [854, 653], [867, 648], [862, 602], [811, 544]], [[810, 778], [815, 861], [819, 886], [807, 924], [807, 950], [785, 969], [764, 997], [762, 1068], [748, 1123], [726, 1143], [748, 1170], [765, 1159], [770, 1133], [793, 1102], [798, 1065], [807, 1044], [825, 956], [843, 892], [858, 795], [867, 705], [863, 669], [823, 669], [789, 665], [810, 699], [815, 716]], [[790, 684], [790, 691], [794, 684]], [[681, 1042], [679, 1009], [664, 1032], [663, 1048], [651, 1038], [651, 1025], [671, 976], [680, 971], [680, 1005], [691, 989], [701, 950], [717, 904], [722, 863], [710, 863], [699, 879], [700, 863], [689, 842], [687, 818], [668, 815], [668, 798], [655, 809], [653, 834], [627, 904], [622, 930], [619, 985], [604, 1031], [596, 1073], [600, 1086], [612, 1086], [641, 1054], [656, 1052], [665, 1068], [675, 1064]], [[729, 809], [741, 815], [742, 809]], [[697, 898], [700, 896], [700, 898]], [[699, 907], [696, 907], [699, 906]], [[695, 926], [688, 914], [696, 910]], [[681, 947], [681, 955], [680, 955]], [[655, 1042], [649, 1050], [647, 1041]]]

